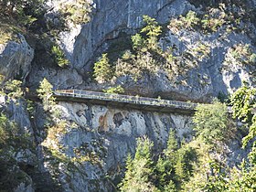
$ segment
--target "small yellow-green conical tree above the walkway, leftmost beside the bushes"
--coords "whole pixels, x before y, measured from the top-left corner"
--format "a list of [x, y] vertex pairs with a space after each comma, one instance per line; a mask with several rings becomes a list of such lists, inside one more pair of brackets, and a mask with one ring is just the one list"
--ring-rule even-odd
[[98, 82], [106, 82], [112, 79], [112, 67], [108, 54], [102, 54], [101, 58], [94, 64], [93, 76]]

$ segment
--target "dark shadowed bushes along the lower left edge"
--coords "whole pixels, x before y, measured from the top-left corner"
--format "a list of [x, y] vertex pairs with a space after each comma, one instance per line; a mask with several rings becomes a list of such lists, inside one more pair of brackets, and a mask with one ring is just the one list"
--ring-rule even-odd
[[15, 122], [0, 114], [0, 191], [10, 191], [21, 182], [26, 182], [27, 174], [20, 170], [15, 155], [21, 150], [31, 149], [28, 133], [21, 133]]

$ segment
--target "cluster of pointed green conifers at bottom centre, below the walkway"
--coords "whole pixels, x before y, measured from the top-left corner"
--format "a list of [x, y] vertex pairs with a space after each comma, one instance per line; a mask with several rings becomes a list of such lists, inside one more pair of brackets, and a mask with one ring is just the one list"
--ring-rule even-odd
[[121, 190], [179, 191], [193, 174], [193, 162], [197, 160], [197, 154], [187, 144], [178, 148], [175, 137], [175, 133], [170, 131], [167, 147], [156, 162], [152, 160], [150, 152], [152, 143], [147, 139], [138, 140], [134, 158], [131, 155], [127, 158]]

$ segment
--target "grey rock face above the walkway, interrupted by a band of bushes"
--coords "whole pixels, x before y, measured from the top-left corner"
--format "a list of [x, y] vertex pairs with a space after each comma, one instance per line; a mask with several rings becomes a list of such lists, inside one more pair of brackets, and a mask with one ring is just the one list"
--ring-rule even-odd
[[[155, 17], [160, 24], [168, 24], [171, 18], [186, 15], [189, 10], [202, 12], [202, 6], [193, 4], [188, 0], [154, 0], [137, 1], [129, 0], [97, 0], [91, 3], [93, 11], [91, 21], [82, 27], [72, 27], [70, 32], [60, 34], [60, 45], [66, 51], [72, 67], [77, 69], [83, 80], [88, 80], [88, 71], [91, 71], [95, 56], [101, 55], [120, 34], [127, 36], [134, 34], [142, 27], [142, 16]], [[255, 6], [255, 1], [248, 1], [249, 6]], [[241, 23], [241, 25], [245, 25]], [[246, 24], [247, 25], [247, 24]], [[248, 66], [225, 66], [229, 48], [239, 43], [251, 44], [253, 47], [255, 24], [250, 24], [252, 30], [249, 33], [228, 33], [225, 29], [219, 29], [211, 34], [201, 31], [182, 29], [177, 33], [169, 31], [162, 37], [160, 44], [164, 49], [175, 46], [176, 54], [189, 52], [199, 43], [210, 47], [207, 59], [203, 59], [190, 69], [189, 62], [186, 75], [180, 74], [176, 80], [168, 77], [165, 71], [159, 70], [155, 74], [144, 74], [135, 82], [129, 76], [123, 76], [115, 80], [113, 84], [120, 84], [131, 94], [172, 99], [209, 101], [210, 97], [219, 94], [228, 95], [240, 87], [243, 80], [252, 82], [251, 71]], [[253, 29], [254, 28], [254, 29]], [[191, 53], [194, 55], [193, 53]], [[191, 58], [191, 63], [195, 58]], [[74, 77], [75, 78], [75, 77]], [[81, 89], [101, 90], [101, 86], [84, 86]], [[76, 87], [76, 84], [69, 87]]]

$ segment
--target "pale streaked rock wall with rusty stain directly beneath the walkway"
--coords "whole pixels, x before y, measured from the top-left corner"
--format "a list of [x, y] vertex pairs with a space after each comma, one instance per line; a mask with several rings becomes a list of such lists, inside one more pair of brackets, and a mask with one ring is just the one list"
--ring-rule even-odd
[[[166, 146], [170, 130], [176, 130], [179, 140], [191, 139], [191, 117], [182, 114], [63, 101], [59, 102], [59, 109], [62, 119], [78, 125], [59, 137], [66, 155], [75, 156], [76, 149], [81, 149], [80, 154], [94, 155], [90, 155], [88, 162], [80, 166], [80, 171], [69, 177], [69, 185], [66, 186], [69, 189], [66, 188], [66, 191], [112, 191], [106, 176], [110, 176], [111, 180], [122, 176], [126, 156], [134, 154], [137, 137], [147, 135], [154, 141], [155, 153]], [[64, 177], [67, 175], [65, 168], [59, 171]], [[64, 179], [63, 182], [67, 184], [68, 181]]]

